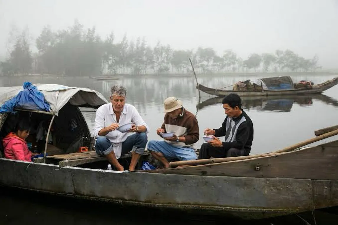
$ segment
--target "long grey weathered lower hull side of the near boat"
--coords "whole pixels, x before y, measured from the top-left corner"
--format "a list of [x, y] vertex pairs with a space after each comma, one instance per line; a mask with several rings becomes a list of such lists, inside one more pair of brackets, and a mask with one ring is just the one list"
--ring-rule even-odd
[[314, 188], [328, 185], [311, 179], [117, 173], [7, 159], [0, 159], [0, 171], [3, 186], [245, 219], [311, 211]]

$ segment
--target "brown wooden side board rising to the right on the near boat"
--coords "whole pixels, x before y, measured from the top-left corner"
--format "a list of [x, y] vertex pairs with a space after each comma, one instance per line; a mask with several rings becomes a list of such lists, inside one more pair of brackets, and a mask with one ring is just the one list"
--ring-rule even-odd
[[[338, 180], [338, 164], [336, 163], [338, 159], [337, 144], [338, 141], [333, 141], [315, 147], [303, 148], [266, 157], [213, 163], [209, 165], [144, 170], [140, 172], [196, 176], [279, 177], [336, 181]], [[316, 188], [320, 187], [317, 186]], [[330, 191], [334, 189], [338, 190], [338, 184], [333, 187], [326, 183], [326, 185], [321, 187], [319, 193], [321, 192], [322, 194], [317, 196], [319, 199], [317, 204], [326, 204], [323, 195], [327, 200], [330, 198], [334, 199], [334, 197], [330, 195]], [[314, 194], [316, 194], [316, 192], [314, 192]], [[335, 204], [336, 202], [333, 203]], [[331, 206], [332, 204], [328, 203], [326, 205]]]

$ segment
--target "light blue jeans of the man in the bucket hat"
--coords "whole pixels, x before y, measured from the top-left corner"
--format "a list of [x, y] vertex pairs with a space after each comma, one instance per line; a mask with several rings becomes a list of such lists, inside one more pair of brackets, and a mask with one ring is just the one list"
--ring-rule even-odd
[[197, 159], [193, 148], [175, 147], [165, 141], [149, 141], [147, 148], [149, 151], [162, 153], [167, 160], [178, 159], [179, 161], [185, 161]]

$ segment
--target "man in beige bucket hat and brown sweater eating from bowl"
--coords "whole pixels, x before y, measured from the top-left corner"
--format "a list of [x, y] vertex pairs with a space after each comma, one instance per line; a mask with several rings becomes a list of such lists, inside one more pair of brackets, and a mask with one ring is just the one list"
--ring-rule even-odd
[[175, 97], [168, 97], [164, 101], [164, 113], [164, 122], [156, 133], [159, 136], [162, 133], [175, 133], [170, 138], [164, 138], [164, 141], [149, 141], [147, 149], [151, 155], [162, 162], [165, 168], [169, 168], [168, 160], [171, 159], [197, 159], [194, 143], [199, 139], [199, 128], [195, 115], [187, 111]]

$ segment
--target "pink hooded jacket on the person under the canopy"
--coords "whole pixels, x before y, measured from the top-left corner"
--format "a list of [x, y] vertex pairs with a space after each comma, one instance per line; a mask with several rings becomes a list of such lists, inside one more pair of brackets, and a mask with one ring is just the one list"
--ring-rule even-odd
[[32, 162], [32, 152], [29, 151], [26, 141], [16, 136], [15, 133], [10, 132], [2, 139], [2, 144], [6, 159]]

